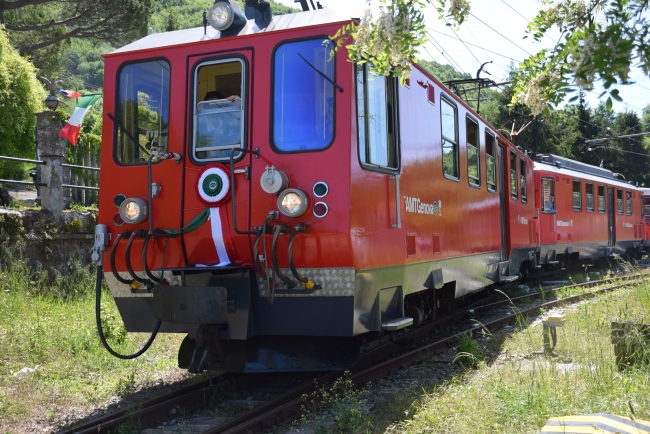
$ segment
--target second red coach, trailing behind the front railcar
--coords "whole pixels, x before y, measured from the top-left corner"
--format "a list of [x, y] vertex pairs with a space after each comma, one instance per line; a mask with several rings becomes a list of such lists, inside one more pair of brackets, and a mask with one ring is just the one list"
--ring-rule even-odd
[[642, 252], [642, 189], [601, 167], [556, 155], [535, 160], [541, 264]]

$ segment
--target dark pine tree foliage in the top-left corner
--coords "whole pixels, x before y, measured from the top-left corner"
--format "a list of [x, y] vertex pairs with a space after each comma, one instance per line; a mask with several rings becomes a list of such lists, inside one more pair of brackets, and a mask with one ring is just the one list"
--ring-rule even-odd
[[73, 38], [123, 44], [146, 34], [151, 0], [0, 0], [0, 24], [43, 72]]

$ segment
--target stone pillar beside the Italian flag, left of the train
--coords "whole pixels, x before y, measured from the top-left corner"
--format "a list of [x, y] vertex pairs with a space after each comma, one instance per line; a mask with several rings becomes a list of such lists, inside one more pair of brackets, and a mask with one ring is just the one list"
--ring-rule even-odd
[[55, 216], [63, 214], [65, 208], [63, 162], [68, 141], [59, 137], [63, 125], [53, 119], [52, 112], [36, 113], [38, 155], [46, 164], [40, 165], [41, 208]]

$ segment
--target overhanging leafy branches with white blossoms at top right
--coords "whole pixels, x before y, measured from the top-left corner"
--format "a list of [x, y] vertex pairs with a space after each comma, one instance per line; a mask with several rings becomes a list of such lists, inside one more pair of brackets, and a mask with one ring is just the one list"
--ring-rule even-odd
[[[352, 61], [372, 62], [378, 73], [405, 79], [410, 60], [426, 41], [421, 12], [426, 5], [435, 6], [450, 25], [462, 24], [470, 10], [469, 0], [389, 0], [380, 6], [376, 20], [367, 10], [359, 24], [335, 34], [337, 48], [346, 45]], [[549, 104], [557, 105], [568, 93], [591, 89], [600, 80], [611, 108], [612, 99], [621, 100], [615, 85], [628, 82], [633, 66], [650, 73], [647, 0], [542, 0], [542, 6], [528, 26], [529, 34], [539, 40], [558, 27], [561, 37], [552, 49], [521, 63], [511, 104], [521, 102], [538, 116]]]

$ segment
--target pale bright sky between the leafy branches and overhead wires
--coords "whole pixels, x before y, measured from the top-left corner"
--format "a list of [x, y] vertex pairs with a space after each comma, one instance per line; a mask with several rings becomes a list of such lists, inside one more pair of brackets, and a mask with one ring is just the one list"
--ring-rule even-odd
[[[279, 0], [280, 3], [300, 8], [292, 0]], [[321, 5], [331, 9], [343, 10], [350, 17], [361, 18], [368, 7], [364, 0], [319, 0]], [[484, 67], [486, 73], [481, 77], [491, 78], [497, 83], [506, 81], [508, 66], [511, 62], [518, 65], [528, 54], [534, 54], [542, 48], [552, 47], [559, 36], [556, 32], [545, 37], [540, 43], [526, 36], [526, 27], [540, 8], [539, 0], [470, 0], [471, 10], [468, 19], [454, 29], [439, 20], [438, 12], [431, 6], [425, 10], [425, 20], [429, 29], [429, 40], [420, 52], [422, 60], [435, 60], [438, 63], [452, 65], [457, 70], [472, 77], [484, 62], [492, 61]], [[372, 9], [379, 2], [370, 3]], [[377, 16], [376, 14], [374, 14]], [[552, 38], [555, 38], [553, 40]], [[461, 42], [459, 39], [464, 41]], [[641, 115], [643, 107], [650, 103], [650, 79], [638, 68], [632, 68], [630, 81], [635, 84], [618, 85], [623, 102], [614, 101], [617, 112], [634, 111]], [[600, 84], [587, 94], [587, 103], [595, 108], [598, 97], [603, 92]], [[605, 101], [607, 95], [602, 100]]]

